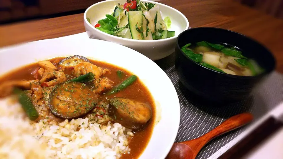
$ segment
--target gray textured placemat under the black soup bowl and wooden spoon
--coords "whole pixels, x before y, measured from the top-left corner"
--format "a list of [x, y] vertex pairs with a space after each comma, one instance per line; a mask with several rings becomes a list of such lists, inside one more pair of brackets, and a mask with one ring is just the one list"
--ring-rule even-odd
[[[175, 142], [198, 138], [218, 126], [228, 117], [242, 112], [251, 112], [254, 115], [255, 122], [283, 101], [282, 74], [274, 72], [257, 88], [254, 95], [247, 100], [224, 106], [205, 103], [192, 95], [182, 85], [176, 73], [174, 57], [175, 54], [172, 54], [164, 59], [155, 61], [155, 63], [168, 75], [179, 97], [181, 119]], [[204, 159], [210, 157], [245, 131], [247, 127], [249, 125], [215, 138], [201, 150], [197, 158]]]

